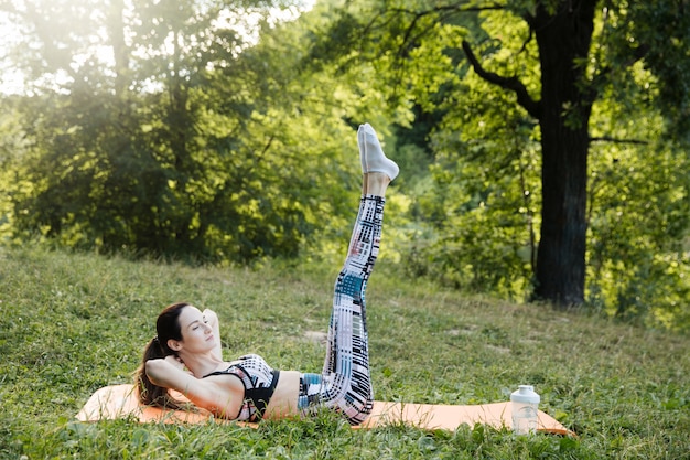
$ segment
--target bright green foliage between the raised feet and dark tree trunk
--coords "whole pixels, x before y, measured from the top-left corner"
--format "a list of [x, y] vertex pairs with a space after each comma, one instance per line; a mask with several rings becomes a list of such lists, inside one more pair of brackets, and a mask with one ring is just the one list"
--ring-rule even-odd
[[[460, 117], [445, 117], [433, 135], [434, 183], [419, 199], [431, 238], [418, 240], [428, 245], [421, 249], [431, 263], [421, 266], [457, 288], [519, 299], [530, 290], [526, 280], [535, 264], [539, 224], [535, 127], [519, 111], [504, 114], [498, 122], [487, 93], [464, 97], [455, 111]], [[470, 110], [485, 111], [470, 124], [457, 114]]]

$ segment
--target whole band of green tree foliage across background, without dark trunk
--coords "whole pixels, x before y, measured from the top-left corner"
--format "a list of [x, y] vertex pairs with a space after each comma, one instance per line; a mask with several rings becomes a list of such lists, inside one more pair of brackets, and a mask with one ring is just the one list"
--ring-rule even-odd
[[[330, 259], [358, 188], [354, 128], [367, 120], [403, 171], [385, 257], [457, 289], [530, 296], [541, 132], [513, 93], [468, 69], [461, 42], [539, 99], [525, 18], [564, 3], [323, 1], [285, 23], [269, 11], [289, 1], [226, 3], [0, 7], [26, 30], [25, 52], [9, 56], [31, 81], [0, 114], [4, 242], [222, 263]], [[686, 330], [681, 9], [607, 3], [590, 55], [573, 64], [586, 69], [580, 89], [594, 100], [587, 303]]]

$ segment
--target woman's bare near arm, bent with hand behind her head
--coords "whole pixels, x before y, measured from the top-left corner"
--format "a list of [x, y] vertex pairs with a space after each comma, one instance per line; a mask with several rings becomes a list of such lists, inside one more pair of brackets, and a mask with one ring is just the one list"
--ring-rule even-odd
[[149, 360], [147, 375], [152, 383], [172, 388], [192, 403], [223, 418], [236, 418], [242, 405], [245, 387], [238, 378], [196, 378], [183, 371], [175, 356]]

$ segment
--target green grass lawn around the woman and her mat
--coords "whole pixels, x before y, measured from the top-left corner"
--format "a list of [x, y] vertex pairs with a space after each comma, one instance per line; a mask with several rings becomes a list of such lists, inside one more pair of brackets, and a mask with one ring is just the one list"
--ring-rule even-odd
[[403, 280], [385, 260], [369, 290], [378, 399], [507, 400], [535, 385], [578, 438], [405, 426], [352, 430], [324, 415], [240, 426], [82, 424], [101, 386], [129, 383], [165, 304], [218, 312], [226, 357], [317, 372], [339, 266], [192, 268], [0, 249], [0, 458], [690, 459], [690, 339]]

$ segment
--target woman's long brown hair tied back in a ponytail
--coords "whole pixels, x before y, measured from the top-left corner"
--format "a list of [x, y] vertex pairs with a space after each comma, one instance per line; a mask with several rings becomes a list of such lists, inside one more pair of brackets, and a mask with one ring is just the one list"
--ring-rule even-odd
[[147, 361], [163, 359], [165, 356], [176, 355], [177, 353], [168, 346], [168, 341], [182, 340], [182, 328], [180, 327], [180, 313], [182, 309], [190, 307], [190, 303], [179, 302], [168, 306], [155, 320], [157, 336], [143, 349], [143, 359], [141, 365], [136, 372], [137, 389], [139, 400], [145, 405], [159, 406], [164, 408], [179, 409], [182, 403], [175, 400], [168, 388], [154, 385], [147, 375]]

